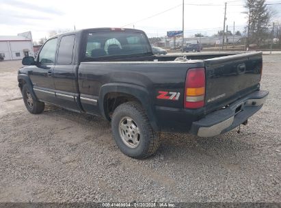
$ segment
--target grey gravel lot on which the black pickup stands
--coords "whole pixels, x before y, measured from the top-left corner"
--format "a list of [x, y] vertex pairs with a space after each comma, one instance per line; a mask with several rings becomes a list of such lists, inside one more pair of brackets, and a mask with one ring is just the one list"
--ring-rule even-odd
[[267, 103], [241, 133], [163, 135], [155, 157], [122, 155], [109, 123], [48, 105], [27, 112], [20, 61], [0, 62], [0, 202], [279, 202], [281, 55], [264, 55]]

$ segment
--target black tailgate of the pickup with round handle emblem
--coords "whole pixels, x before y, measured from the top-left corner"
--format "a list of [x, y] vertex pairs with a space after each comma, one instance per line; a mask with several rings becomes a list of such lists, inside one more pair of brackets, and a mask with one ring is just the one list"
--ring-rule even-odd
[[259, 88], [262, 52], [217, 57], [204, 64], [207, 110], [221, 108]]

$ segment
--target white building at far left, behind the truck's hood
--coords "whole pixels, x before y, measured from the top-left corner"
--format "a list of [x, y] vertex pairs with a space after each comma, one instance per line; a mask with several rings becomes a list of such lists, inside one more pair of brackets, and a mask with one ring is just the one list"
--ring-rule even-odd
[[31, 31], [17, 36], [0, 36], [0, 55], [4, 60], [21, 60], [34, 56]]

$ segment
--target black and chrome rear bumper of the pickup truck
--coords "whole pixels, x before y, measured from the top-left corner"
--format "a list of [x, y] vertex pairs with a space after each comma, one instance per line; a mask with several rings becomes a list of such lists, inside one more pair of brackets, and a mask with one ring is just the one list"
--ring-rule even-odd
[[263, 90], [252, 92], [225, 109], [219, 109], [192, 122], [190, 133], [199, 137], [212, 137], [230, 131], [258, 112], [268, 94]]

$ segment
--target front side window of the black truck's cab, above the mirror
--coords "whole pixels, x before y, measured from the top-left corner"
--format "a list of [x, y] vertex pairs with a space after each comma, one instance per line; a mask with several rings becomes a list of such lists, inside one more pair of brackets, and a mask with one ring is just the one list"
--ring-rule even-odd
[[55, 63], [55, 51], [57, 49], [57, 38], [48, 40], [39, 54], [40, 64], [54, 64]]

